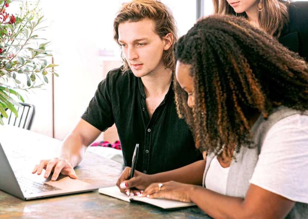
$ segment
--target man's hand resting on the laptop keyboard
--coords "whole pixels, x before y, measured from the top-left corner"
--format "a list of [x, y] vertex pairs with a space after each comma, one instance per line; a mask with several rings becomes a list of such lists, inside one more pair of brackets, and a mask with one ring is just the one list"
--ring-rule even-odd
[[48, 178], [49, 175], [53, 172], [51, 177], [52, 181], [57, 180], [60, 173], [67, 175], [72, 179], [77, 179], [76, 172], [72, 165], [65, 159], [54, 158], [50, 160], [41, 160], [38, 165], [35, 165], [32, 173], [40, 175], [42, 170], [45, 169], [45, 178]]

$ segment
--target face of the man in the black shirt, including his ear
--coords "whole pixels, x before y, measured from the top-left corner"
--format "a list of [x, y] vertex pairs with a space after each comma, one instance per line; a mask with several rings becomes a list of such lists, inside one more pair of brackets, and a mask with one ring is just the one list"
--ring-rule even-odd
[[119, 24], [119, 43], [129, 67], [136, 77], [143, 77], [163, 68], [162, 56], [168, 41], [155, 32], [150, 19]]

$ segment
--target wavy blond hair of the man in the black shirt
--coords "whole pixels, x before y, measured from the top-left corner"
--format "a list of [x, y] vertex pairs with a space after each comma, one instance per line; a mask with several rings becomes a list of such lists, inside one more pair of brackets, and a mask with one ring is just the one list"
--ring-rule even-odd
[[[176, 22], [173, 18], [171, 10], [161, 3], [159, 0], [133, 0], [128, 3], [123, 3], [121, 9], [118, 11], [114, 22], [113, 38], [115, 42], [120, 45], [118, 42], [119, 39], [119, 24], [124, 22], [138, 22], [142, 19], [151, 19], [156, 24], [156, 33], [163, 38], [168, 33], [171, 33], [173, 36], [173, 44], [171, 47], [163, 52], [163, 63], [166, 68], [172, 69], [174, 71], [175, 62], [173, 56], [174, 43], [177, 41], [177, 28]], [[123, 56], [121, 51], [121, 58], [124, 62], [122, 67], [122, 72], [125, 72], [129, 69], [129, 65]]]

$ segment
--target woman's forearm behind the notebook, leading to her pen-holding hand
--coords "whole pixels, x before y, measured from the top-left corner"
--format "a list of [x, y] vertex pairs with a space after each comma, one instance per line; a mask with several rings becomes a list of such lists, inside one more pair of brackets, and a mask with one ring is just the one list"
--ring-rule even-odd
[[205, 162], [205, 160], [199, 160], [175, 170], [157, 173], [150, 176], [152, 182], [168, 182], [172, 180], [180, 183], [201, 185]]

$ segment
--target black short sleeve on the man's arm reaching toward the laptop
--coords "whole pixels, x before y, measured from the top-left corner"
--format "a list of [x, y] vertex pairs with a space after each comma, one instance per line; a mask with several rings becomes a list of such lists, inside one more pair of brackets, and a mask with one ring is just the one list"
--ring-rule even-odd
[[101, 131], [107, 130], [107, 128], [114, 124], [111, 80], [110, 72], [108, 72], [106, 79], [99, 83], [94, 97], [81, 116], [83, 120]]

